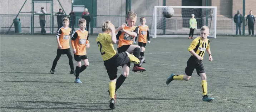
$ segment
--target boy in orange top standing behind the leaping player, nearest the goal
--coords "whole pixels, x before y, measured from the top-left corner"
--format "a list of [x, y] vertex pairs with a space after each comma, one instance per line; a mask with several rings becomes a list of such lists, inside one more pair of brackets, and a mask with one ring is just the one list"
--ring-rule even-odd
[[[144, 51], [146, 50], [147, 39], [148, 39], [148, 43], [150, 43], [150, 37], [148, 32], [148, 26], [146, 25], [146, 18], [141, 17], [139, 20], [141, 22], [141, 25], [138, 26], [139, 35], [137, 37], [139, 38], [138, 44], [141, 47], [141, 57], [144, 57]], [[135, 38], [134, 43], [136, 43], [137, 37]], [[144, 60], [143, 63], [146, 63], [146, 60]]]

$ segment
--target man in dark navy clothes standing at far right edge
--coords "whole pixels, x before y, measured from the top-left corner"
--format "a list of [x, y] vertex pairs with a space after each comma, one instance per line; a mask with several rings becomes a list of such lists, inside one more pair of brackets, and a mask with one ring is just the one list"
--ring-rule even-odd
[[[255, 17], [254, 17], [254, 15], [252, 14], [252, 11], [251, 11], [251, 10], [250, 10], [250, 14], [247, 15], [247, 17], [246, 17], [245, 23], [246, 23], [247, 20], [248, 20], [249, 35], [251, 35], [251, 31], [252, 31], [252, 35], [254, 35]], [[247, 25], [247, 23], [246, 23], [246, 25]], [[246, 25], [245, 25], [245, 26], [246, 26]]]

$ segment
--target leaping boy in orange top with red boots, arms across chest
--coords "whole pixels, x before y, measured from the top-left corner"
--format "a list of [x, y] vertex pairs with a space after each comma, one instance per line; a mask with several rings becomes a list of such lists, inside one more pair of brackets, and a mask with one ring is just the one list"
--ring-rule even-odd
[[[138, 36], [139, 34], [139, 29], [138, 27], [134, 26], [136, 21], [137, 21], [137, 14], [134, 11], [129, 11], [127, 13], [127, 25], [123, 24], [118, 27], [115, 31], [118, 31], [117, 33], [117, 51], [118, 53], [121, 52], [128, 52], [129, 54], [133, 54], [135, 57], [139, 58], [140, 55], [140, 48], [138, 45], [132, 45], [134, 38]], [[143, 72], [146, 71], [145, 68], [142, 68], [142, 62], [144, 61], [144, 58], [141, 57], [140, 63], [134, 63], [134, 67], [132, 69], [133, 72]], [[115, 91], [118, 90], [118, 88], [123, 84], [124, 80], [126, 77], [129, 75], [129, 70], [130, 70], [131, 63], [128, 62], [126, 64], [122, 65], [123, 73], [120, 75], [117, 79], [117, 82], [115, 84]]]

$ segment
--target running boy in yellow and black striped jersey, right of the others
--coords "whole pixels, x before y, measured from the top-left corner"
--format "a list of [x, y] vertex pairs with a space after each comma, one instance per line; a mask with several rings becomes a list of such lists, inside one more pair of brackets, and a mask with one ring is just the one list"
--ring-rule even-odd
[[200, 30], [200, 36], [192, 41], [188, 47], [188, 51], [192, 54], [187, 61], [187, 67], [185, 69], [186, 75], [174, 75], [172, 73], [166, 80], [168, 85], [173, 80], [185, 80], [188, 81], [191, 78], [191, 75], [196, 68], [197, 75], [201, 77], [201, 87], [203, 91], [203, 101], [212, 101], [214, 98], [211, 98], [207, 95], [207, 82], [205, 68], [203, 67], [203, 56], [205, 51], [209, 54], [209, 61], [212, 61], [212, 54], [210, 50], [210, 40], [207, 39], [209, 36], [210, 30], [208, 26], [203, 26]]

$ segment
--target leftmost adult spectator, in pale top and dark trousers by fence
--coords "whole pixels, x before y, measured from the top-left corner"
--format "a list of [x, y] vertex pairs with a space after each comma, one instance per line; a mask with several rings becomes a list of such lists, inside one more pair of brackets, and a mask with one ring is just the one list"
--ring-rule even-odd
[[37, 14], [39, 14], [41, 34], [45, 34], [46, 33], [46, 31], [44, 29], [44, 27], [45, 27], [45, 14], [47, 14], [47, 13], [44, 10], [44, 7], [41, 7], [41, 10], [39, 12], [37, 12]]

